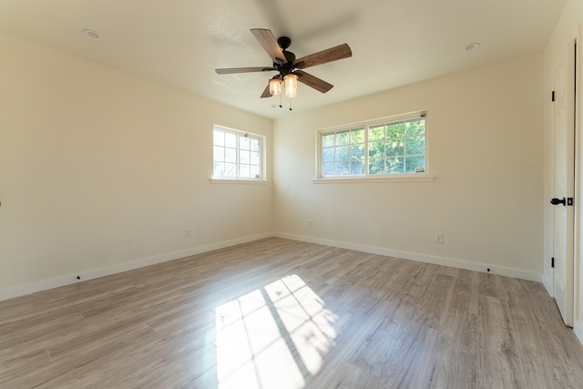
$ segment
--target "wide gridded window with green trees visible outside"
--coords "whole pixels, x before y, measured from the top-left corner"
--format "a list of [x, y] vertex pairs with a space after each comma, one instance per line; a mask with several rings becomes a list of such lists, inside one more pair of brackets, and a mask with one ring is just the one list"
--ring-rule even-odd
[[424, 173], [425, 114], [319, 132], [319, 177]]

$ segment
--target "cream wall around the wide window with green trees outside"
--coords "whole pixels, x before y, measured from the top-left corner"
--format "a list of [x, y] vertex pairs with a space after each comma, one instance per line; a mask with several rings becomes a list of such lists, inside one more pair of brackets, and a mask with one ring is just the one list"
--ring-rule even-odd
[[[276, 230], [540, 281], [542, 67], [527, 56], [276, 120]], [[312, 183], [317, 129], [418, 110], [435, 181]]]

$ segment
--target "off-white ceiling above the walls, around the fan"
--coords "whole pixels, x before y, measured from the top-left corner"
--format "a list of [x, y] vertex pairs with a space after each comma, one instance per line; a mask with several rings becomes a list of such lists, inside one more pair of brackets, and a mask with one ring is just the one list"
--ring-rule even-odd
[[[268, 118], [275, 73], [251, 28], [290, 36], [307, 56], [347, 43], [353, 56], [307, 69], [334, 85], [300, 84], [295, 111], [541, 52], [567, 0], [0, 0], [0, 33], [115, 67]], [[89, 39], [84, 29], [99, 32]], [[464, 46], [479, 42], [477, 50]]]

